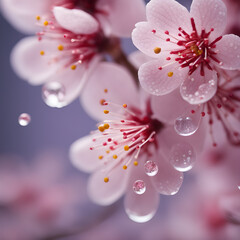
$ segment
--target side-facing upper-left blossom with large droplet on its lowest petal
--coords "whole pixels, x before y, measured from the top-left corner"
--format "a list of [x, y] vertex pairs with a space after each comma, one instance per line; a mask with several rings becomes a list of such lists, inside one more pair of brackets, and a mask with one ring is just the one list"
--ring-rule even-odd
[[[142, 6], [141, 1], [137, 2]], [[36, 17], [38, 25], [43, 27], [37, 33], [38, 39], [24, 38], [13, 49], [11, 60], [15, 72], [33, 85], [45, 83], [43, 99], [51, 107], [63, 107], [73, 101], [103, 54], [119, 48], [119, 40], [106, 36], [102, 30], [103, 28], [106, 32], [106, 28], [99, 19], [94, 18], [94, 11], [103, 14], [103, 10], [98, 10], [96, 4], [97, 1], [56, 1], [55, 5], [60, 6], [52, 8], [53, 15]], [[116, 9], [118, 4], [119, 1], [111, 4], [106, 1], [101, 7], [109, 6], [111, 9], [111, 6]], [[138, 4], [136, 3], [137, 6]], [[89, 13], [72, 9], [74, 6]], [[118, 11], [119, 9], [115, 13]], [[115, 17], [110, 17], [111, 14], [109, 18], [115, 26]], [[134, 17], [142, 18], [141, 7], [131, 19]], [[131, 22], [130, 19], [129, 21]], [[116, 35], [118, 31], [118, 35], [122, 33], [122, 36], [127, 36], [124, 27], [116, 29]]]

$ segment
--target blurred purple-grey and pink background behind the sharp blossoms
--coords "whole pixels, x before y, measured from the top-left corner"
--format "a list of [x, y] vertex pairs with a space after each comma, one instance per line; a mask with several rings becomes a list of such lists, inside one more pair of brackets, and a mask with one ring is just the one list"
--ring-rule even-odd
[[[187, 8], [191, 4], [179, 2]], [[42, 100], [41, 86], [19, 79], [10, 66], [11, 49], [24, 35], [1, 14], [0, 30], [0, 240], [226, 239], [209, 237], [205, 231], [195, 235], [202, 228], [200, 222], [197, 227], [192, 225], [195, 217], [187, 218], [188, 228], [181, 224], [178, 213], [182, 210], [199, 214], [192, 204], [202, 195], [191, 186], [196, 180], [192, 173], [185, 173], [176, 196], [161, 198], [158, 213], [145, 224], [128, 219], [122, 200], [110, 207], [90, 203], [85, 189], [88, 175], [72, 167], [68, 151], [75, 140], [95, 129], [96, 122], [78, 100], [60, 109], [48, 107]], [[127, 53], [134, 50], [130, 39], [122, 44]], [[31, 116], [26, 127], [18, 123], [21, 113]], [[175, 233], [176, 228], [180, 230]], [[239, 239], [239, 226], [234, 229], [229, 240]], [[180, 232], [184, 234], [178, 235]]]

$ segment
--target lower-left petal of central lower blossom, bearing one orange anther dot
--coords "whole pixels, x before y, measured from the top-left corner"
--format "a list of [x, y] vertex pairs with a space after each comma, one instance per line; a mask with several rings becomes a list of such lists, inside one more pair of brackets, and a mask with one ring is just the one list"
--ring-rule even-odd
[[[109, 182], [104, 182], [105, 177], [109, 178]], [[115, 168], [111, 172], [100, 169], [88, 180], [88, 195], [94, 203], [110, 205], [124, 194], [127, 180], [128, 174], [122, 168]]]

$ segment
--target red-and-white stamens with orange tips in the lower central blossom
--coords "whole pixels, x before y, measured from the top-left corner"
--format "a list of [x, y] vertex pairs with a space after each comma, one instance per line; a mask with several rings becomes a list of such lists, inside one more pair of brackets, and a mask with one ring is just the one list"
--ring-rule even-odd
[[[114, 110], [104, 110], [108, 120], [101, 122], [98, 131], [92, 133], [93, 146], [90, 150], [103, 153], [98, 158], [104, 161], [104, 165], [110, 166], [109, 171], [118, 166], [126, 170], [131, 163], [137, 166], [140, 154], [151, 156], [150, 148], [158, 147], [155, 135], [163, 124], [126, 104], [120, 106], [105, 100], [101, 100], [101, 104]], [[104, 181], [108, 182], [109, 178]]]

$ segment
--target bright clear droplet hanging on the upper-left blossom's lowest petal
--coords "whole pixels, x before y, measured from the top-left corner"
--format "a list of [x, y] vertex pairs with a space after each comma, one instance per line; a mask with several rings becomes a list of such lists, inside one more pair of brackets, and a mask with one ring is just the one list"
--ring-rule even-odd
[[42, 88], [42, 97], [49, 107], [61, 108], [66, 105], [64, 102], [65, 89], [58, 82], [46, 83]]

